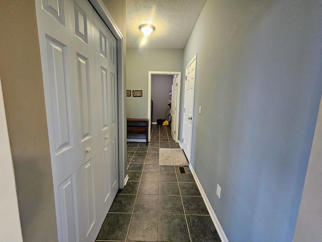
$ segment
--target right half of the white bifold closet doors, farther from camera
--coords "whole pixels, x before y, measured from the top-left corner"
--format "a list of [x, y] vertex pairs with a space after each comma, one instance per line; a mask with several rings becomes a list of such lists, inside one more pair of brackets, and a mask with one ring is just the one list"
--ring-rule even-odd
[[97, 109], [100, 111], [98, 146], [103, 177], [103, 186], [100, 187], [103, 207], [99, 212], [106, 214], [119, 188], [116, 39], [97, 13], [94, 13], [94, 25]]

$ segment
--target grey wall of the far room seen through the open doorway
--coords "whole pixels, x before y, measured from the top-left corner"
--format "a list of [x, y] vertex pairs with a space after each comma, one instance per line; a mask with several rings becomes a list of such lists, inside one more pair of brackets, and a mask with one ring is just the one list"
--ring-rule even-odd
[[[171, 91], [173, 76], [152, 75], [151, 77], [151, 99], [153, 99], [152, 122], [156, 119], [166, 118], [166, 110], [170, 108], [168, 100]], [[169, 114], [169, 111], [167, 112]]]

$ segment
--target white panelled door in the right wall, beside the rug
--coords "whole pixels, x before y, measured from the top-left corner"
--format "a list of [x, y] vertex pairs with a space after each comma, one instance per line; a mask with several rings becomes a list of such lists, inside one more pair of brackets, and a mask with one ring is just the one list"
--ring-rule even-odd
[[190, 161], [191, 158], [191, 141], [192, 141], [192, 124], [193, 124], [193, 106], [195, 95], [195, 78], [196, 78], [196, 59], [197, 54], [192, 58], [186, 67], [185, 80], [185, 100], [184, 100], [184, 116], [183, 116], [183, 134], [182, 146], [183, 150]]

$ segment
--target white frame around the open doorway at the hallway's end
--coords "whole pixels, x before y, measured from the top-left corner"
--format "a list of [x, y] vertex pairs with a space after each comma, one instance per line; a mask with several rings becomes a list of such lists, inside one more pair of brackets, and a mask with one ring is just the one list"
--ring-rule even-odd
[[149, 135], [148, 141], [150, 141], [151, 137], [151, 79], [152, 75], [178, 75], [178, 87], [177, 87], [177, 112], [176, 112], [176, 135], [175, 142], [179, 142], [179, 111], [180, 111], [180, 88], [181, 88], [181, 72], [148, 72], [148, 84], [147, 84], [147, 118], [149, 119]]

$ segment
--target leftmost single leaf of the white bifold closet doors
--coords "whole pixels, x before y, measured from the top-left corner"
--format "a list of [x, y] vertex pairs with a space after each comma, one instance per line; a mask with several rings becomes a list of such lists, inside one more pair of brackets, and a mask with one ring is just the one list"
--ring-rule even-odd
[[[70, 3], [70, 2], [69, 2]], [[59, 241], [78, 241], [76, 184], [80, 177], [73, 53], [68, 9], [62, 1], [36, 1], [46, 115]], [[65, 10], [65, 11], [64, 11]], [[48, 27], [50, 26], [50, 27]]]

